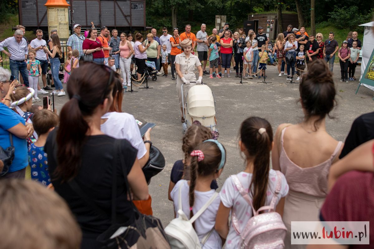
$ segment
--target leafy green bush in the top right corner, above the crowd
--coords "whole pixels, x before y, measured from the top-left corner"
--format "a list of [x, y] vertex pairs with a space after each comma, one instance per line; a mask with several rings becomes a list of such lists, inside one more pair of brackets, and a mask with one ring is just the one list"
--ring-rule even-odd
[[334, 11], [329, 12], [329, 22], [337, 28], [355, 29], [358, 25], [370, 22], [374, 9], [359, 10], [358, 6], [339, 8], [334, 6]]

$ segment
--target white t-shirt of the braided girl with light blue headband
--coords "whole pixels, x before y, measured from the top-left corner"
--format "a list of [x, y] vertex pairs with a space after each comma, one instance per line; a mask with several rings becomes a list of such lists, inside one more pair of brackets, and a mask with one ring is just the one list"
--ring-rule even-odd
[[[178, 199], [179, 199], [179, 188], [182, 187], [182, 209], [187, 218], [190, 217], [190, 199], [188, 197], [188, 191], [190, 186], [187, 180], [180, 180], [175, 184], [173, 190], [170, 193], [171, 199], [174, 201], [174, 210], [178, 217]], [[192, 207], [193, 214], [196, 214], [202, 206], [208, 202], [212, 197], [215, 190], [211, 189], [207, 192], [200, 192], [195, 190], [195, 203]], [[199, 240], [209, 233], [215, 225], [215, 217], [217, 215], [218, 207], [220, 206], [220, 196], [212, 202], [212, 204], [200, 215], [199, 218], [194, 222], [197, 236]], [[213, 230], [208, 240], [206, 240], [203, 249], [221, 249], [222, 240], [216, 230]]]

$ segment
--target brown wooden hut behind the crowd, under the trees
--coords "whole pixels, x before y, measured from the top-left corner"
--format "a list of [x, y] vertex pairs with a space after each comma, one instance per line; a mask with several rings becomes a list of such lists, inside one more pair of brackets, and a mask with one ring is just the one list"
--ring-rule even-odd
[[[270, 40], [275, 40], [277, 35], [287, 30], [288, 25], [292, 25], [294, 28], [300, 28], [297, 14], [282, 14], [283, 27], [282, 30], [278, 30], [277, 13], [266, 13], [266, 14], [249, 14], [248, 21], [254, 21], [255, 32], [257, 33], [258, 27], [264, 28], [264, 33], [269, 34]], [[269, 29], [269, 30], [268, 30]]]

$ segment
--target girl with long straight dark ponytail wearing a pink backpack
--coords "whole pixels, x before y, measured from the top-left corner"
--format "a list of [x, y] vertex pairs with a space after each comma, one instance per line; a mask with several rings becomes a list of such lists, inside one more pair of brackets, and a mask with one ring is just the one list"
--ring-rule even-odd
[[[258, 210], [270, 205], [275, 193], [277, 172], [270, 169], [270, 151], [272, 150], [273, 130], [268, 121], [263, 118], [250, 117], [242, 122], [240, 127], [240, 151], [246, 158], [245, 169], [236, 174], [244, 189], [249, 190], [253, 206]], [[282, 215], [284, 197], [288, 193], [286, 178], [281, 173], [281, 191], [278, 194], [276, 212]], [[253, 216], [252, 208], [239, 193], [233, 178], [229, 177], [220, 192], [221, 203], [218, 209], [215, 229], [223, 239], [226, 239], [226, 249], [240, 248], [240, 234], [237, 234], [229, 215], [233, 210], [239, 221], [239, 231], [247, 226]]]

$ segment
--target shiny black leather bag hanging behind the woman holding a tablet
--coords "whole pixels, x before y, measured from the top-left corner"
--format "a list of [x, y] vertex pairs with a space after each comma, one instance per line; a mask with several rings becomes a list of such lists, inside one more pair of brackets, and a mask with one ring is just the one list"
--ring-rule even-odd
[[149, 150], [148, 162], [143, 167], [143, 173], [148, 185], [151, 182], [151, 178], [160, 173], [164, 167], [164, 156], [162, 155], [159, 149], [152, 145], [151, 149]]

